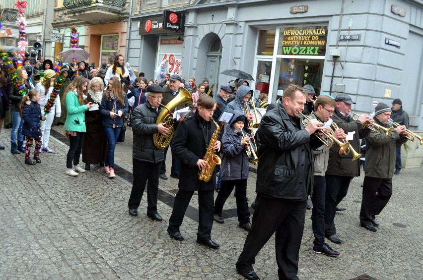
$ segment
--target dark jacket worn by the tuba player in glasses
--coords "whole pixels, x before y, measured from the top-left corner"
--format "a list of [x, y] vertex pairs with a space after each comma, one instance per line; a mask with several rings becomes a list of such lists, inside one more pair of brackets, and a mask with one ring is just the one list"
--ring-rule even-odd
[[158, 163], [164, 159], [164, 149], [157, 150], [153, 143], [153, 135], [158, 132], [156, 119], [162, 108], [156, 109], [146, 102], [132, 112], [132, 132], [134, 142], [132, 157], [141, 162]]

